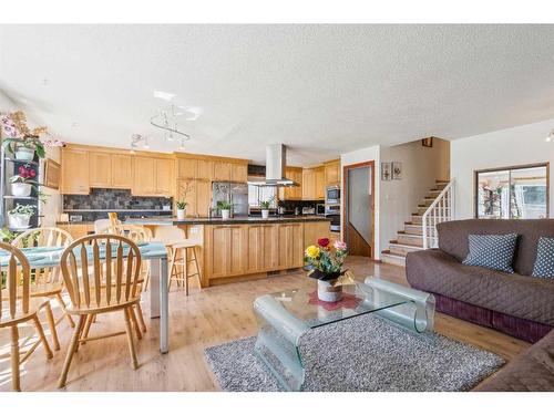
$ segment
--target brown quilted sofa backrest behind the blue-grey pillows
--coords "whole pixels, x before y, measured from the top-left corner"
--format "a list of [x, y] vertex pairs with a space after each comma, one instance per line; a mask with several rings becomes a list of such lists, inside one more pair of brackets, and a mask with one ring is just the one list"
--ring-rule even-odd
[[468, 257], [470, 235], [517, 234], [513, 269], [531, 276], [536, 259], [538, 238], [554, 238], [554, 219], [469, 219], [439, 224], [439, 248], [460, 262]]

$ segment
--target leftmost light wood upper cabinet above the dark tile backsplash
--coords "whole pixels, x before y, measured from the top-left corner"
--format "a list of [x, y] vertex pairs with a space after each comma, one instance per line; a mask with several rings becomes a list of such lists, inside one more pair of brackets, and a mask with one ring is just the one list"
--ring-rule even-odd
[[62, 184], [64, 195], [89, 195], [89, 152], [62, 148]]

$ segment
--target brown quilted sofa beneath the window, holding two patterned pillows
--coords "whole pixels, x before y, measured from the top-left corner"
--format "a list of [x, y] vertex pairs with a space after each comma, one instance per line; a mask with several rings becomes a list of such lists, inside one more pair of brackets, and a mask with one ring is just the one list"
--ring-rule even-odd
[[[437, 310], [529, 342], [554, 328], [554, 279], [530, 277], [538, 238], [554, 237], [554, 220], [455, 220], [438, 226], [439, 249], [407, 256], [408, 282], [435, 295]], [[515, 273], [465, 266], [469, 235], [520, 235]]]

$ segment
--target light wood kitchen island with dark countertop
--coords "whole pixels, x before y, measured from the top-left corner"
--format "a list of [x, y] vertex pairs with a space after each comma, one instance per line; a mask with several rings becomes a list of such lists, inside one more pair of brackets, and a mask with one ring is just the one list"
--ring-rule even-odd
[[[145, 218], [125, 222], [151, 228], [156, 240], [175, 242], [174, 237], [164, 240], [164, 236], [179, 235], [196, 243], [202, 287], [300, 268], [305, 248], [331, 236], [330, 219], [321, 216]], [[181, 232], [168, 232], [172, 229], [167, 227]]]

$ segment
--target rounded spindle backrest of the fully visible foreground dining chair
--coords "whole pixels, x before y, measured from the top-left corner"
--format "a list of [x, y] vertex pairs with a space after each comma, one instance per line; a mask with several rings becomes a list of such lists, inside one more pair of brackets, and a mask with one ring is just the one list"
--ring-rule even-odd
[[116, 305], [140, 294], [141, 251], [119, 235], [91, 235], [62, 253], [65, 288], [76, 309]]

